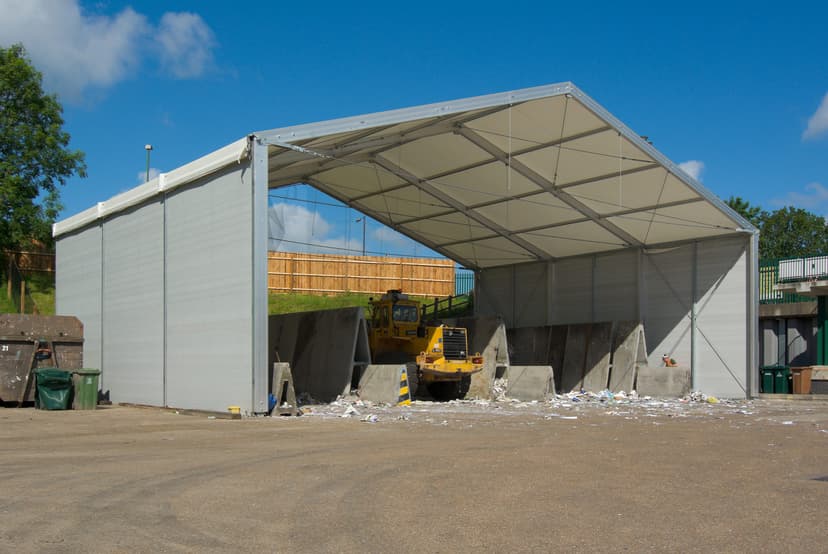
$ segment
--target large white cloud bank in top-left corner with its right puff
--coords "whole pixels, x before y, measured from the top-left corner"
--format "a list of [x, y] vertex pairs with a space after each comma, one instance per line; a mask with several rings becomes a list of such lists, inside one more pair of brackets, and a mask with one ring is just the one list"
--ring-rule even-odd
[[0, 13], [0, 45], [23, 43], [46, 87], [70, 102], [135, 76], [150, 56], [175, 78], [212, 63], [213, 32], [192, 13], [167, 12], [158, 27], [132, 8], [98, 15], [79, 0], [0, 0]]

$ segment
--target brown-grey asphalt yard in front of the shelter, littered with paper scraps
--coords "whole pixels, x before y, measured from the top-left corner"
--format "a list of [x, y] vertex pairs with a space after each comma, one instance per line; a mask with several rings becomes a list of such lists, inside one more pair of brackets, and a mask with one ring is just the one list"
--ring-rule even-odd
[[347, 408], [0, 409], [0, 551], [828, 552], [828, 402]]

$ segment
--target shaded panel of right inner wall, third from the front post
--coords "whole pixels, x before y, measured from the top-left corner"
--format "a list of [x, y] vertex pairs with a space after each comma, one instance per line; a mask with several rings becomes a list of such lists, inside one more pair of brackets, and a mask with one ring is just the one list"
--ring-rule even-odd
[[638, 255], [595, 258], [595, 320], [633, 321], [638, 315]]

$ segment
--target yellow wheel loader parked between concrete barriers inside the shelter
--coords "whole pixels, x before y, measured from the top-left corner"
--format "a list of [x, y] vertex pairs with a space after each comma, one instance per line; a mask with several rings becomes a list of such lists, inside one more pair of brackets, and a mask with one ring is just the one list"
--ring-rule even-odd
[[377, 364], [405, 363], [412, 396], [424, 385], [435, 400], [463, 398], [471, 376], [483, 369], [480, 353], [469, 355], [462, 327], [422, 321], [420, 303], [401, 290], [369, 299], [368, 340]]

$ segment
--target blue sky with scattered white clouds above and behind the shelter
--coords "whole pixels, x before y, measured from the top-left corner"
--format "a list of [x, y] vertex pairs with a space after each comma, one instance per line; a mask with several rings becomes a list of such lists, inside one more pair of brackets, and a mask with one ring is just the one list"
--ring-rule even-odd
[[[64, 216], [138, 184], [147, 143], [169, 171], [256, 130], [560, 81], [719, 196], [828, 215], [826, 22], [823, 2], [0, 0], [0, 44], [27, 47], [86, 152]], [[361, 249], [360, 214], [271, 202], [296, 242]]]

